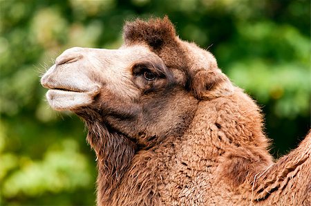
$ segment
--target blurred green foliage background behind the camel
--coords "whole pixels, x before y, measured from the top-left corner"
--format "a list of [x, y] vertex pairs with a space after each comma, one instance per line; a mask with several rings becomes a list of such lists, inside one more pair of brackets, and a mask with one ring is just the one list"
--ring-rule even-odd
[[310, 1], [0, 1], [0, 205], [95, 205], [95, 156], [39, 75], [73, 46], [117, 48], [124, 21], [168, 15], [265, 113], [278, 158], [310, 128]]

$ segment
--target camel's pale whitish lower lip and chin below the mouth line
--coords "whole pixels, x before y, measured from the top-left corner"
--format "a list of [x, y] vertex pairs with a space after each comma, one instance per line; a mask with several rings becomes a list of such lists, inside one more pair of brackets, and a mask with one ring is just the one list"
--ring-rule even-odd
[[76, 91], [62, 91], [57, 89], [50, 89], [46, 93], [46, 99], [52, 109], [57, 111], [77, 109], [81, 106], [87, 106], [94, 100], [98, 92], [76, 92]]

